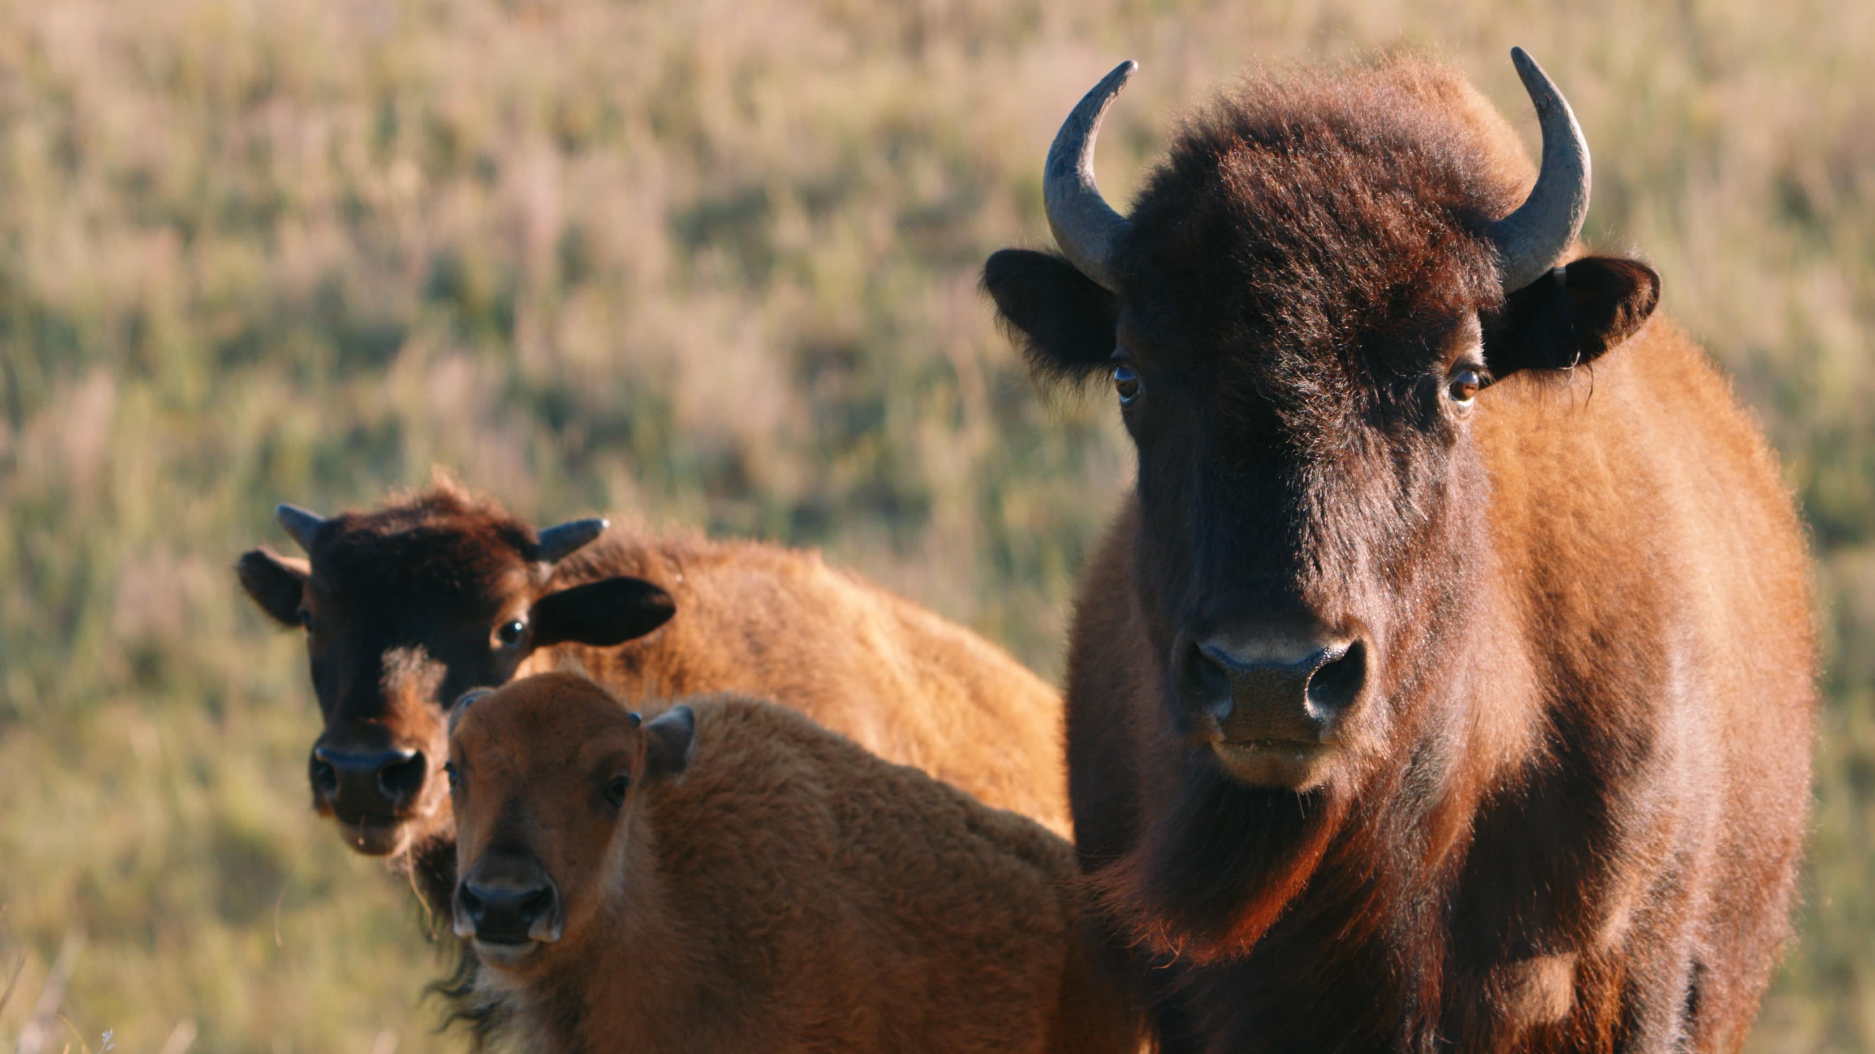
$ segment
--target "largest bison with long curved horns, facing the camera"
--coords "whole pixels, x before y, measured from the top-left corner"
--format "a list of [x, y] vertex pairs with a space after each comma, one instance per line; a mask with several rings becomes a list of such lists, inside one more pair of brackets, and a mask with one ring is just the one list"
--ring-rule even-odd
[[[1138, 450], [1069, 656], [1082, 866], [1172, 1050], [1734, 1050], [1787, 930], [1802, 533], [1588, 146], [1389, 60], [1252, 79], [984, 285]], [[1564, 266], [1558, 266], [1558, 264]]]

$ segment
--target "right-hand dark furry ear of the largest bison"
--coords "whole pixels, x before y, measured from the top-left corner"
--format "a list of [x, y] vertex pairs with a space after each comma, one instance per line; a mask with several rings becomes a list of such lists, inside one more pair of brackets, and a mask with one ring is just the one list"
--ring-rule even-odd
[[1496, 377], [1594, 362], [1639, 330], [1659, 304], [1659, 276], [1644, 263], [1582, 257], [1511, 293], [1485, 338]]

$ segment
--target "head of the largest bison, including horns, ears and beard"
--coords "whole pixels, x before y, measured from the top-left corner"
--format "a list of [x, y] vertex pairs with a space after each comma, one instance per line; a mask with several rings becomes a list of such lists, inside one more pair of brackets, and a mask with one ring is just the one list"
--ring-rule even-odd
[[1123, 64], [1048, 152], [1063, 255], [986, 264], [1035, 373], [1108, 381], [1138, 452], [1108, 546], [1123, 570], [1091, 572], [1074, 664], [1123, 658], [1069, 696], [1127, 696], [1112, 711], [1136, 733], [1095, 735], [1134, 735], [1138, 814], [1089, 859], [1162, 947], [1249, 947], [1350, 810], [1429, 778], [1476, 716], [1464, 679], [1489, 675], [1468, 638], [1496, 602], [1476, 437], [1517, 428], [1489, 388], [1566, 377], [1654, 308], [1639, 263], [1556, 266], [1588, 146], [1513, 58], [1543, 129], [1534, 186], [1476, 92], [1393, 62], [1252, 83], [1187, 126], [1125, 218], [1091, 165]]

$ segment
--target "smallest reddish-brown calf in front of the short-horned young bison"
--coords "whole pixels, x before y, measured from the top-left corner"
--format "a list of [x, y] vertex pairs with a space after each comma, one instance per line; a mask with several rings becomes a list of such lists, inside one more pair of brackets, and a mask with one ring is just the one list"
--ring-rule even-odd
[[538, 1052], [1131, 1052], [1041, 825], [733, 696], [544, 673], [450, 716], [456, 934]]

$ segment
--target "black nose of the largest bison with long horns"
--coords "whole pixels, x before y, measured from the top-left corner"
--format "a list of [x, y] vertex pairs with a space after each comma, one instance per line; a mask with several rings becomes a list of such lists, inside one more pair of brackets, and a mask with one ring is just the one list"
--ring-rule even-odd
[[1224, 741], [1328, 743], [1367, 683], [1367, 645], [1209, 634], [1187, 645], [1179, 683]]

